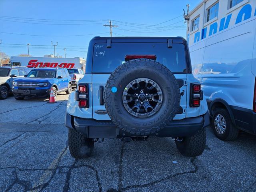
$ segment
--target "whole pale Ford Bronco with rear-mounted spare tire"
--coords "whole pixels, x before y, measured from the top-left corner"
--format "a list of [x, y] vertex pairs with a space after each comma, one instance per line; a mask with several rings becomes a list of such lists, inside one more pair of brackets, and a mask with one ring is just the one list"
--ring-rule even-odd
[[74, 158], [104, 138], [172, 137], [184, 156], [199, 156], [207, 103], [182, 37], [94, 37], [86, 73], [68, 98], [66, 127]]

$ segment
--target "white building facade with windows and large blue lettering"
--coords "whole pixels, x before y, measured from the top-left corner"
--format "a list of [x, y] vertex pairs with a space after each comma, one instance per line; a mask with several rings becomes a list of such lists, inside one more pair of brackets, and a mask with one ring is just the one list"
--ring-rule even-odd
[[189, 46], [256, 16], [256, 0], [202, 0], [186, 18]]

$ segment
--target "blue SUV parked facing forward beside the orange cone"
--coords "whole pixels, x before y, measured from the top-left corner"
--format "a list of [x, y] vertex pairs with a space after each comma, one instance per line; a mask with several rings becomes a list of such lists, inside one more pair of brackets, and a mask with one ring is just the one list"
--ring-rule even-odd
[[25, 97], [47, 98], [51, 88], [56, 99], [57, 93], [72, 90], [71, 78], [65, 68], [35, 68], [24, 78], [16, 78], [12, 83], [12, 92], [16, 100]]

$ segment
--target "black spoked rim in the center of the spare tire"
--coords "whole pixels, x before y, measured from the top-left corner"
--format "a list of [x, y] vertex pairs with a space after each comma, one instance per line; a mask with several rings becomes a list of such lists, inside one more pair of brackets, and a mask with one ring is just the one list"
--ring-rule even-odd
[[138, 78], [131, 81], [123, 92], [124, 108], [131, 115], [146, 118], [154, 115], [162, 105], [162, 90], [149, 78]]

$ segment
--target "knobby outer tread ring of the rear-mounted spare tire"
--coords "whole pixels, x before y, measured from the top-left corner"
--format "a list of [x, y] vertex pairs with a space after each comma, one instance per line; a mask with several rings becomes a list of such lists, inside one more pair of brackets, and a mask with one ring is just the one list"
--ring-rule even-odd
[[[125, 126], [124, 124], [122, 124], [121, 120], [118, 120], [116, 114], [113, 112], [112, 110], [112, 103], [110, 99], [112, 91], [111, 88], [112, 86], [114, 86], [116, 80], [118, 78], [120, 78], [120, 76], [123, 74], [123, 72], [127, 72], [129, 70], [132, 70], [134, 68], [138, 68], [138, 67], [151, 67], [151, 68], [155, 68], [158, 71], [160, 71], [163, 76], [165, 76], [166, 79], [168, 79], [169, 81], [173, 82], [171, 85], [173, 86], [173, 90], [178, 90], [174, 93], [174, 102], [172, 103], [173, 105], [173, 111], [170, 113], [170, 115], [162, 121], [162, 123], [160, 123], [158, 126], [154, 126], [152, 128], [150, 128], [150, 130], [148, 129], [140, 129], [140, 132], [138, 132], [138, 130], [136, 128], [128, 128], [127, 126]], [[105, 86], [105, 91], [104, 91], [104, 105], [106, 108], [106, 111], [108, 112], [108, 116], [110, 117], [110, 119], [114, 122], [114, 124], [116, 124], [116, 126], [118, 126], [118, 128], [134, 134], [136, 133], [136, 135], [146, 135], [146, 134], [154, 134], [160, 130], [162, 130], [167, 124], [169, 124], [172, 119], [174, 118], [174, 116], [176, 115], [176, 111], [178, 110], [178, 107], [180, 105], [180, 89], [178, 86], [178, 82], [176, 81], [175, 76], [172, 74], [172, 72], [170, 72], [170, 70], [160, 64], [159, 62], [152, 62], [152, 60], [150, 60], [150, 62], [148, 62], [148, 59], [134, 59], [134, 60], [130, 60], [128, 62], [125, 62], [124, 64], [118, 66], [116, 68], [116, 70], [114, 70], [114, 72], [110, 75], [110, 77], [108, 78], [108, 81], [106, 82], [106, 86]]]

